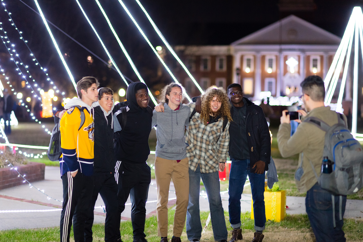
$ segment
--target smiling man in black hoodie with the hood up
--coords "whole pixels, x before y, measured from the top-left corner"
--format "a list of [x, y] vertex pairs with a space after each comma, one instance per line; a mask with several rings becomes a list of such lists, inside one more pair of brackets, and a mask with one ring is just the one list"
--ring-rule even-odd
[[[118, 182], [118, 226], [125, 203], [131, 196], [131, 221], [134, 242], [147, 242], [144, 233], [146, 200], [151, 182], [151, 169], [146, 164], [150, 148], [148, 138], [151, 131], [152, 110], [148, 106], [147, 86], [133, 82], [126, 92], [129, 105], [126, 109], [115, 108], [115, 173]], [[116, 107], [119, 107], [117, 105]], [[126, 123], [122, 112], [126, 111]]]

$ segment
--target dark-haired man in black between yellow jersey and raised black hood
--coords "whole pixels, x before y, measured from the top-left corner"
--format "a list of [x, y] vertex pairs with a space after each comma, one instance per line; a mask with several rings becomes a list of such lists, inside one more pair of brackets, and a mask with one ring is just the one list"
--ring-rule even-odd
[[120, 217], [117, 216], [117, 182], [114, 177], [115, 159], [113, 147], [113, 90], [100, 88], [98, 102], [94, 102], [94, 189], [92, 203], [85, 225], [85, 242], [92, 242], [93, 210], [98, 193], [106, 207], [105, 241], [121, 241]]

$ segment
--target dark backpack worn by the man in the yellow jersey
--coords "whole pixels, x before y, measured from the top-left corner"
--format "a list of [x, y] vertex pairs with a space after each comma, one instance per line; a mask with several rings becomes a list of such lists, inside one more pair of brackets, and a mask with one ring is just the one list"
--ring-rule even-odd
[[[74, 105], [73, 107], [77, 107], [79, 109], [79, 112], [81, 112], [81, 124], [79, 125], [79, 129], [82, 128], [83, 124], [85, 123], [85, 113], [83, 112], [81, 106]], [[54, 117], [54, 122], [56, 125], [54, 125], [54, 128], [52, 130], [52, 136], [50, 136], [50, 142], [48, 146], [47, 156], [50, 161], [59, 161], [59, 158], [62, 155], [62, 148], [61, 148], [61, 119], [58, 117]]]

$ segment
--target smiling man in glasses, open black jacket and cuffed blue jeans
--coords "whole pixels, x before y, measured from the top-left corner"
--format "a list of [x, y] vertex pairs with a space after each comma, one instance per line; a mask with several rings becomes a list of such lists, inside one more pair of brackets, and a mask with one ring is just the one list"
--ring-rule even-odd
[[252, 242], [261, 242], [265, 229], [265, 171], [268, 170], [271, 156], [271, 140], [265, 114], [260, 106], [243, 97], [240, 84], [231, 84], [227, 88], [231, 101], [233, 121], [229, 126], [229, 156], [232, 164], [229, 173], [229, 222], [232, 239], [242, 239], [241, 227], [241, 194], [248, 175], [251, 183], [254, 238]]

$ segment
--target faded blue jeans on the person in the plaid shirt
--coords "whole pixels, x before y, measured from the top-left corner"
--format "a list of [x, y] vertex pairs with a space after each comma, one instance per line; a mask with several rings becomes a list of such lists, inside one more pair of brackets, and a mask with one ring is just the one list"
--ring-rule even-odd
[[189, 169], [189, 203], [187, 210], [188, 240], [200, 239], [202, 232], [199, 214], [200, 178], [202, 178], [208, 195], [214, 240], [227, 239], [227, 226], [224, 220], [219, 174], [218, 172], [200, 173], [200, 165], [198, 164], [195, 172]]

